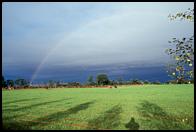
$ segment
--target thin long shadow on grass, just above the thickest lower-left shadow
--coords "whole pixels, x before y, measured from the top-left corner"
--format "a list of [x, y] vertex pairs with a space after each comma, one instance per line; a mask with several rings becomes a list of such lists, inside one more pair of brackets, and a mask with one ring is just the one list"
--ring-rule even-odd
[[5, 111], [10, 111], [10, 112], [17, 112], [17, 111], [22, 111], [22, 110], [26, 110], [26, 109], [31, 109], [31, 108], [38, 107], [38, 106], [41, 106], [41, 105], [48, 105], [48, 104], [51, 104], [51, 103], [60, 102], [60, 101], [68, 100], [68, 99], [71, 99], [71, 98], [59, 99], [59, 100], [48, 101], [48, 102], [42, 102], [42, 103], [33, 104], [33, 105], [30, 105], [30, 106], [25, 106], [25, 107], [15, 108], [15, 109], [6, 108], [6, 109], [4, 109], [4, 110], [5, 110]]

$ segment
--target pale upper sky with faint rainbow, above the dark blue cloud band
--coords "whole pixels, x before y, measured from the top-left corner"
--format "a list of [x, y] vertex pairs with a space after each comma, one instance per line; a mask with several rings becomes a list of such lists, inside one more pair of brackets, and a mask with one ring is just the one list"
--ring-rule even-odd
[[45, 67], [164, 64], [169, 59], [164, 53], [168, 41], [194, 30], [193, 23], [170, 21], [168, 15], [193, 6], [193, 2], [4, 2], [3, 73], [14, 71], [14, 76], [23, 69], [35, 78]]

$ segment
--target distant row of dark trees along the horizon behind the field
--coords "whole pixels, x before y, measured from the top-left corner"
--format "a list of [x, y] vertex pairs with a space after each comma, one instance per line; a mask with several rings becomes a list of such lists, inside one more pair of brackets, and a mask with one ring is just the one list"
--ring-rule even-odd
[[131, 79], [129, 81], [123, 80], [119, 77], [116, 80], [110, 80], [108, 75], [98, 74], [94, 79], [92, 75], [87, 78], [86, 83], [81, 84], [80, 82], [60, 82], [55, 80], [49, 80], [44, 84], [31, 84], [28, 80], [25, 79], [16, 79], [16, 80], [5, 80], [2, 76], [2, 88], [6, 89], [20, 89], [20, 88], [85, 88], [85, 87], [114, 87], [117, 88], [119, 85], [143, 85], [143, 84], [190, 84], [194, 83], [194, 80], [184, 80], [179, 82], [176, 80], [170, 80], [164, 83], [160, 81], [148, 81], [148, 80], [139, 80]]

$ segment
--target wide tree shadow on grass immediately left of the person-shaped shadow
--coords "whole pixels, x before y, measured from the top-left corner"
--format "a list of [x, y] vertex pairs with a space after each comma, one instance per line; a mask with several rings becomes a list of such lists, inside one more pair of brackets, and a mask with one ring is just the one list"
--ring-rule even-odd
[[113, 129], [120, 125], [120, 113], [122, 108], [119, 105], [113, 106], [111, 109], [103, 113], [103, 115], [90, 120], [87, 129]]

